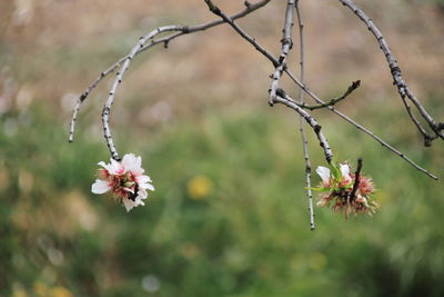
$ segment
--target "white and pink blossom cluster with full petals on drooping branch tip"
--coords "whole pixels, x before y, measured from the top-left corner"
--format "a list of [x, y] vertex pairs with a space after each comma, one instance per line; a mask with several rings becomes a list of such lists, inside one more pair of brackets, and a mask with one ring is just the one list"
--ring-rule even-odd
[[93, 194], [112, 191], [117, 202], [123, 204], [127, 211], [133, 207], [144, 205], [142, 201], [148, 197], [147, 190], [154, 190], [151, 178], [143, 175], [142, 158], [133, 154], [123, 156], [121, 162], [110, 159], [110, 164], [99, 162], [99, 178], [91, 187]]

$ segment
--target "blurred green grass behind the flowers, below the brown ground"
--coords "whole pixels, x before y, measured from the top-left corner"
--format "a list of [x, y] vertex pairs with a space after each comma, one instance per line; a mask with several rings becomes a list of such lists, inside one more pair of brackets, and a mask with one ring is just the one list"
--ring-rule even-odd
[[[1, 294], [442, 296], [442, 181], [330, 118], [325, 127], [341, 128], [326, 128], [331, 145], [364, 158], [382, 209], [345, 221], [316, 208], [310, 231], [299, 120], [276, 109], [208, 110], [147, 137], [117, 128], [121, 151], [143, 156], [157, 187], [130, 214], [90, 192], [108, 159], [100, 138], [79, 129], [69, 145], [65, 122], [37, 103], [1, 116]], [[441, 174], [441, 152], [387, 129]], [[324, 165], [311, 142], [313, 167]], [[201, 177], [209, 185], [193, 194]]]

